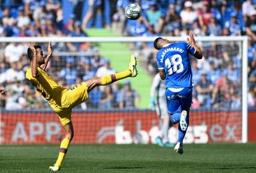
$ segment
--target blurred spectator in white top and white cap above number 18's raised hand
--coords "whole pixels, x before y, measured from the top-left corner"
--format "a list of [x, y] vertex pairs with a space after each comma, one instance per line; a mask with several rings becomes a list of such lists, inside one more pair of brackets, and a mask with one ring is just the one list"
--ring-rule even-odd
[[197, 19], [197, 12], [193, 8], [191, 1], [186, 1], [184, 4], [184, 9], [181, 10], [181, 22], [183, 25], [189, 24], [192, 25], [194, 20]]

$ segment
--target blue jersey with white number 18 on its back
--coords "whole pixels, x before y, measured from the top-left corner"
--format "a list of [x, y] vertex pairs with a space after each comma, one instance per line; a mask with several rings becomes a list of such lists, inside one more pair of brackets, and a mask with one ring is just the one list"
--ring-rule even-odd
[[195, 54], [195, 48], [187, 42], [164, 46], [156, 55], [158, 69], [164, 69], [166, 87], [183, 88], [192, 86], [192, 71], [189, 54]]

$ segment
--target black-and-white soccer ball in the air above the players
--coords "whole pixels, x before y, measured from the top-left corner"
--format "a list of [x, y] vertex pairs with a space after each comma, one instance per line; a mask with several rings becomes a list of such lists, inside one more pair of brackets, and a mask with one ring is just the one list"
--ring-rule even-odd
[[124, 10], [124, 14], [130, 20], [137, 20], [142, 15], [142, 9], [137, 4], [129, 4]]

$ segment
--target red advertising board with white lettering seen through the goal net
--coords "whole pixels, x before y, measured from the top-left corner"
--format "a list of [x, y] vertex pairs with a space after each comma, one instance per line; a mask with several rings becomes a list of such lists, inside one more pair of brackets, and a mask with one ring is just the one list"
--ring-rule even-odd
[[[73, 143], [155, 143], [158, 120], [152, 110], [74, 111]], [[184, 143], [242, 140], [239, 110], [192, 111], [190, 122]], [[59, 143], [63, 135], [52, 111], [2, 111], [0, 116], [1, 144]], [[169, 129], [169, 139], [177, 142], [177, 125]]]

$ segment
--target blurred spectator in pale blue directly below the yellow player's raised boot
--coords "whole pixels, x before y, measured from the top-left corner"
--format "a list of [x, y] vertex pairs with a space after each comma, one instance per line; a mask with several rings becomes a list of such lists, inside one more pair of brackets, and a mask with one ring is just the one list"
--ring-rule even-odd
[[130, 81], [124, 82], [124, 88], [120, 91], [119, 108], [139, 108], [140, 95], [131, 89]]

